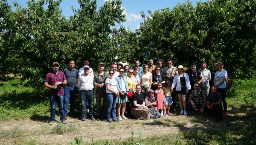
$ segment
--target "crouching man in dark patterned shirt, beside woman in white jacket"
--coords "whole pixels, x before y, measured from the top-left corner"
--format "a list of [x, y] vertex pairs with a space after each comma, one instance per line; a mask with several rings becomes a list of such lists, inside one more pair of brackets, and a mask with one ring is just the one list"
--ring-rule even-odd
[[204, 112], [206, 104], [207, 93], [205, 90], [200, 89], [199, 83], [194, 84], [194, 90], [189, 95], [188, 107], [191, 110], [191, 114], [195, 114], [195, 109], [200, 109], [200, 112]]

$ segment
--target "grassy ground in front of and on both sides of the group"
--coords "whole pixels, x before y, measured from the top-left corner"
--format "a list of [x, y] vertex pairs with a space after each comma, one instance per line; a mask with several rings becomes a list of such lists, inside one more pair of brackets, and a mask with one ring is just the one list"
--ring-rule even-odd
[[[19, 79], [0, 81], [0, 123], [10, 122], [9, 128], [0, 128], [0, 137], [3, 144], [47, 144], [38, 140], [38, 136], [71, 136], [77, 137], [68, 139], [66, 144], [256, 144], [256, 77], [252, 79], [232, 80], [232, 85], [227, 91], [228, 113], [220, 123], [214, 122], [214, 117], [195, 115], [162, 117], [154, 119], [153, 122], [146, 120], [131, 119], [127, 122], [105, 124], [104, 122], [86, 121], [80, 123], [68, 122], [64, 125], [55, 123], [48, 125], [49, 120], [49, 100], [47, 89], [38, 90], [37, 88], [26, 86], [26, 82], [20, 83]], [[79, 95], [77, 95], [79, 96]], [[95, 102], [95, 101], [94, 101]], [[75, 111], [80, 116], [80, 100], [77, 99]], [[56, 108], [56, 112], [57, 112]], [[56, 113], [57, 115], [57, 113]], [[56, 116], [56, 118], [59, 118]], [[38, 127], [26, 128], [23, 119], [37, 121]], [[21, 120], [24, 125], [10, 125], [15, 120]], [[16, 121], [17, 122], [17, 121]], [[29, 122], [29, 121], [28, 121]], [[30, 125], [34, 125], [30, 121]], [[134, 128], [137, 125], [137, 129]], [[34, 126], [33, 126], [34, 127]], [[131, 132], [131, 137], [112, 138], [103, 140], [88, 141], [89, 133], [81, 135], [84, 130], [94, 128], [102, 131], [100, 136], [107, 133], [115, 133], [118, 129]], [[159, 132], [150, 136], [141, 128], [176, 128], [175, 133]], [[105, 132], [106, 133], [106, 132]], [[129, 133], [128, 133], [129, 134]], [[81, 135], [81, 136], [80, 136]], [[120, 134], [119, 134], [120, 135]], [[78, 137], [79, 136], [79, 137]], [[75, 138], [75, 139], [74, 139]], [[10, 141], [4, 143], [4, 141]], [[48, 143], [50, 144], [50, 143]], [[56, 143], [55, 143], [56, 144]], [[58, 142], [57, 144], [63, 144]]]

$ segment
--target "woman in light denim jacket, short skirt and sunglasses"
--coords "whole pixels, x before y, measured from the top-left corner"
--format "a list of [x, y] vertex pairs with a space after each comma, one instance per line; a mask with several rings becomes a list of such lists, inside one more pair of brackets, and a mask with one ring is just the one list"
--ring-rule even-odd
[[[119, 91], [119, 96], [117, 97], [118, 120], [127, 119], [124, 114], [125, 114], [126, 102], [128, 102], [127, 93], [129, 89], [127, 84], [127, 79], [126, 77], [123, 76], [124, 72], [125, 72], [124, 69], [122, 68], [119, 69], [119, 76], [115, 78], [117, 80], [117, 88]], [[120, 115], [121, 105], [122, 105], [122, 112]]]

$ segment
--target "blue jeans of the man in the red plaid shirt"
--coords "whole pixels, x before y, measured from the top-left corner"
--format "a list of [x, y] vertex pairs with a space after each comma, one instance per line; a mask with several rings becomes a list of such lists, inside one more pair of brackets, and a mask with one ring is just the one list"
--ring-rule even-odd
[[61, 96], [49, 96], [50, 99], [50, 106], [51, 106], [51, 120], [55, 121], [55, 108], [56, 108], [56, 101], [58, 100], [58, 106], [59, 106], [59, 113], [61, 117], [61, 121], [65, 120], [64, 118], [64, 107], [63, 107], [63, 101], [64, 101], [64, 95]]

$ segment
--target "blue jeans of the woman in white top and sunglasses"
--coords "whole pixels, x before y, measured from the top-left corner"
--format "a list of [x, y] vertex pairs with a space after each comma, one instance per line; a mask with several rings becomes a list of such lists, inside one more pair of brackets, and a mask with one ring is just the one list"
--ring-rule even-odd
[[116, 104], [117, 104], [117, 96], [115, 93], [107, 93], [107, 120], [110, 120], [110, 112], [112, 114], [112, 118], [116, 119]]

